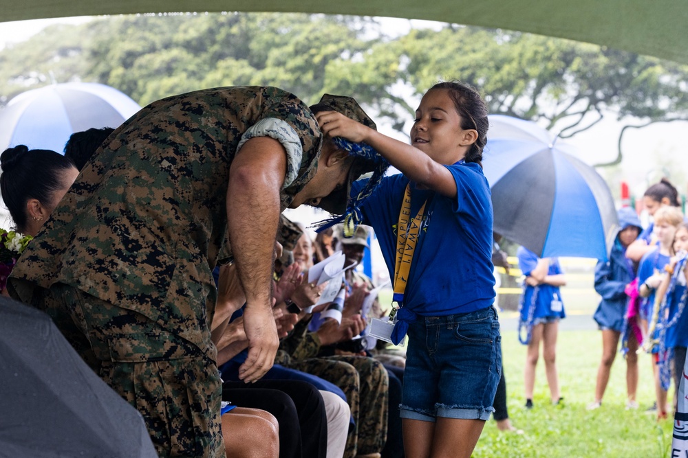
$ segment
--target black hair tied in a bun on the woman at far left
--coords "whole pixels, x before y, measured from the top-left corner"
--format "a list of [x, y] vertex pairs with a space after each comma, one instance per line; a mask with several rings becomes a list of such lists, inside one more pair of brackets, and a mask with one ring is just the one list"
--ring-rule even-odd
[[74, 163], [52, 150], [30, 150], [17, 145], [0, 155], [0, 167], [0, 193], [17, 229], [24, 232], [28, 200], [35, 198], [47, 205], [52, 193], [64, 187], [62, 175]]

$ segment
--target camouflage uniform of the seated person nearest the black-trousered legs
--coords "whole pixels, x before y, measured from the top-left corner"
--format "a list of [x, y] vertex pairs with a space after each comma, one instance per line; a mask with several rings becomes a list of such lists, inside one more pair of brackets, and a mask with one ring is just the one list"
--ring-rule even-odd
[[387, 369], [367, 356], [317, 357], [321, 343], [317, 334], [307, 332], [309, 322], [297, 323], [281, 341], [275, 363], [319, 376], [344, 391], [355, 422], [347, 436], [345, 458], [380, 453], [387, 442]]

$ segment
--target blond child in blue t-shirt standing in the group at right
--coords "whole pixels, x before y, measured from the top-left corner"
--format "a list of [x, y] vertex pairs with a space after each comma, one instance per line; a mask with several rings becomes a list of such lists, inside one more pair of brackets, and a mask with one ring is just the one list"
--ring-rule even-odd
[[659, 371], [659, 347], [651, 345], [657, 337], [657, 323], [660, 319], [661, 299], [657, 300], [655, 291], [667, 276], [665, 266], [669, 257], [674, 255], [674, 238], [678, 226], [683, 222], [683, 214], [676, 207], [660, 207], [654, 214], [654, 235], [659, 245], [649, 253], [645, 253], [638, 266], [638, 294], [644, 299], [641, 301], [640, 324], [643, 329], [643, 348], [653, 354], [652, 371], [657, 397], [657, 415], [662, 417], [667, 412], [667, 391], [660, 385]]

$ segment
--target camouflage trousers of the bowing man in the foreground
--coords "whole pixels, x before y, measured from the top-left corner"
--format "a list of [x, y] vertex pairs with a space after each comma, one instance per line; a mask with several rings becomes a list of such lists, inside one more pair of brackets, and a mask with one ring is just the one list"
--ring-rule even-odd
[[141, 413], [160, 457], [225, 457], [222, 382], [215, 362], [195, 345], [142, 314], [64, 284], [52, 286], [35, 305]]

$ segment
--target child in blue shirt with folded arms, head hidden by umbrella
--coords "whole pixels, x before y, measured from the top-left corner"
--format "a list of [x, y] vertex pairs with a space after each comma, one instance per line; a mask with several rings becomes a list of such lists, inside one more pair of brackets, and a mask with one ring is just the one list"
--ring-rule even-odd
[[[550, 387], [550, 398], [555, 404], [561, 402], [559, 376], [557, 375], [557, 331], [559, 319], [566, 317], [561, 301], [559, 286], [566, 285], [559, 260], [556, 257], [540, 259], [533, 251], [519, 247], [516, 251], [519, 267], [526, 276], [524, 293], [519, 312], [519, 340], [528, 345], [524, 387], [526, 389], [526, 408], [533, 408], [533, 389], [535, 389], [535, 367], [540, 356], [545, 360], [545, 374]], [[526, 328], [525, 339], [521, 335]]]

